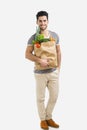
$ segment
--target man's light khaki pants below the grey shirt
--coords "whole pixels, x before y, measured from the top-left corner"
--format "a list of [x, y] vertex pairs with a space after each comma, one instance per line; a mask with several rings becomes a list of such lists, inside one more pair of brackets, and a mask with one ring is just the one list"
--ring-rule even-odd
[[[52, 118], [52, 112], [57, 101], [59, 91], [59, 71], [58, 69], [45, 74], [35, 73], [36, 79], [36, 96], [38, 113], [41, 120], [48, 120]], [[46, 87], [49, 91], [49, 100], [45, 107], [45, 92]]]

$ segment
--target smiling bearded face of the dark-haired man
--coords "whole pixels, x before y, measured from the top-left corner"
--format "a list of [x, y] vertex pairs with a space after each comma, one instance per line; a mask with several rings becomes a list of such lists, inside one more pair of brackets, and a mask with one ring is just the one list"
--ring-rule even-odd
[[40, 27], [40, 30], [44, 31], [48, 26], [48, 20], [46, 16], [40, 16], [37, 20], [37, 24]]

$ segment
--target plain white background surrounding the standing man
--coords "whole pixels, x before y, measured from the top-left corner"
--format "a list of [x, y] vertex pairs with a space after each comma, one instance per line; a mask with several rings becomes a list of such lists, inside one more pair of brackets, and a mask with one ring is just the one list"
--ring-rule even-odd
[[40, 10], [48, 11], [48, 28], [58, 33], [62, 51], [60, 93], [53, 118], [60, 130], [85, 130], [86, 0], [0, 1], [0, 130], [40, 129], [34, 64], [25, 59], [27, 41], [35, 32]]

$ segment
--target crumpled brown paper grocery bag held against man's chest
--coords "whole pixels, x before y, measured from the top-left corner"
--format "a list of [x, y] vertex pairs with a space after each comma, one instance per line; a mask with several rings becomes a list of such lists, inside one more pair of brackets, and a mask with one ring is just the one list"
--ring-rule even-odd
[[57, 53], [55, 41], [42, 42], [40, 48], [34, 45], [34, 55], [41, 59], [47, 59], [49, 66], [41, 67], [39, 63], [35, 62], [36, 70], [44, 70], [57, 67]]

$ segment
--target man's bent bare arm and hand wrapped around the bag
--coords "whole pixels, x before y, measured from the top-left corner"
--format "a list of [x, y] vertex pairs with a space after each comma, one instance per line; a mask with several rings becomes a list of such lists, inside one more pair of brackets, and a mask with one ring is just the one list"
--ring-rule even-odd
[[41, 59], [35, 55], [33, 55], [33, 46], [27, 46], [26, 51], [25, 51], [25, 58], [28, 60], [31, 60], [33, 62], [39, 63], [42, 67], [48, 66], [48, 61], [47, 59]]

